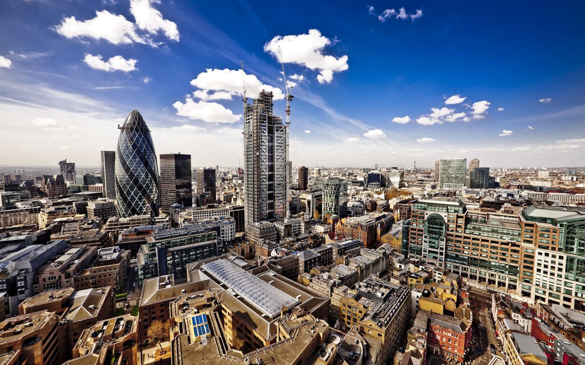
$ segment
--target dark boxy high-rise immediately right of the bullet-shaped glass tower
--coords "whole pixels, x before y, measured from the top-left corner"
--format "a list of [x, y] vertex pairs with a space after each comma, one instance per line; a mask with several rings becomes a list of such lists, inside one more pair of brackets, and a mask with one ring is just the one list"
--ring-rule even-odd
[[178, 203], [184, 207], [192, 204], [191, 155], [160, 155], [160, 207], [168, 214], [168, 208]]

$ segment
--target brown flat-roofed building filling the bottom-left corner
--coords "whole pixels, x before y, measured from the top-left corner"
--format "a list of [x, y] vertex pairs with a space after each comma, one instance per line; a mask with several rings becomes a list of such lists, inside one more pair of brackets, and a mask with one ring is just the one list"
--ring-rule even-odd
[[59, 335], [54, 312], [19, 315], [0, 322], [0, 353], [6, 365], [58, 365]]

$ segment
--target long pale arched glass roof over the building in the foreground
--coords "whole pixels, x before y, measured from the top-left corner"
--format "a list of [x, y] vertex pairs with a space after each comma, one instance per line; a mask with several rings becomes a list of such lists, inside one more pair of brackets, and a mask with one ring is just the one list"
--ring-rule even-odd
[[240, 269], [228, 260], [219, 259], [204, 264], [202, 268], [270, 318], [280, 314], [283, 307], [291, 307], [299, 303], [297, 299], [246, 270]]

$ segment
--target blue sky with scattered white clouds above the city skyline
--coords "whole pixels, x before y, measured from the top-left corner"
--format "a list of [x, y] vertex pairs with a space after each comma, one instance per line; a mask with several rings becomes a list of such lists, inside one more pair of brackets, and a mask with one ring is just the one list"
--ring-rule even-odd
[[[242, 90], [294, 166], [585, 165], [585, 3], [0, 2], [0, 165], [97, 166], [133, 109], [157, 154], [237, 166]], [[243, 62], [243, 71], [242, 71]]]

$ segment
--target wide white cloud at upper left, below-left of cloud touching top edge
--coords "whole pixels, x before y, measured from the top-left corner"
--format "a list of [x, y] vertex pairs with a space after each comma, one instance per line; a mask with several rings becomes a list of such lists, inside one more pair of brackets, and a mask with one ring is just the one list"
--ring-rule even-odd
[[122, 15], [115, 15], [107, 10], [96, 11], [95, 18], [90, 20], [80, 21], [74, 16], [65, 18], [55, 30], [66, 38], [104, 39], [112, 44], [146, 43], [146, 40], [136, 33], [134, 23]]

